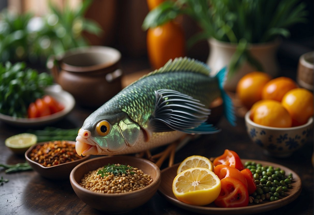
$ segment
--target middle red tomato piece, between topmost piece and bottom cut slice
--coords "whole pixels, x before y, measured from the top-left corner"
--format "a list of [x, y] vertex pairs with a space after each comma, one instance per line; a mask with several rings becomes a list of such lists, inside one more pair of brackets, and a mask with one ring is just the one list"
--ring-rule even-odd
[[247, 182], [244, 175], [234, 167], [220, 164], [215, 166], [214, 173], [218, 176], [220, 180], [227, 177], [236, 178], [247, 187]]

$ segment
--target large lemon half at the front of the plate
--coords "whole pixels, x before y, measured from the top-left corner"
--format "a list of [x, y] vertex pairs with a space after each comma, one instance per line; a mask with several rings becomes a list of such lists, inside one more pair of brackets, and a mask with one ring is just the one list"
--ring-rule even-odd
[[201, 167], [184, 170], [172, 183], [173, 194], [178, 200], [198, 206], [214, 202], [220, 190], [218, 176], [213, 171]]

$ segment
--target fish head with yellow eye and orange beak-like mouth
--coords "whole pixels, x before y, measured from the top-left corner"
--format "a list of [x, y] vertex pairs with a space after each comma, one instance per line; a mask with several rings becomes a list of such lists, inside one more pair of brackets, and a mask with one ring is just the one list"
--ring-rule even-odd
[[140, 135], [140, 126], [127, 113], [91, 114], [76, 137], [78, 155], [114, 155], [132, 147]]

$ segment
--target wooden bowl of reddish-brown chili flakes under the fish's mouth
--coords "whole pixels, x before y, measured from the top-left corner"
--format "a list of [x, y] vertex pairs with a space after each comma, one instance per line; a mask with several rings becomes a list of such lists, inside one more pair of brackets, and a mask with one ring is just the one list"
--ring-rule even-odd
[[71, 170], [89, 157], [79, 156], [75, 151], [75, 141], [69, 140], [38, 143], [25, 152], [29, 165], [49, 179], [68, 179]]

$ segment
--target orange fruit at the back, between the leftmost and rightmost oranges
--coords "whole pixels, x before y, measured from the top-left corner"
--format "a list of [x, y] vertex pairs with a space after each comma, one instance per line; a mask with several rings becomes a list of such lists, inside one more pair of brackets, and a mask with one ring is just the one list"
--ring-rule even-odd
[[289, 90], [297, 88], [295, 81], [288, 77], [274, 78], [265, 84], [262, 91], [262, 99], [273, 99], [281, 102], [284, 94]]

